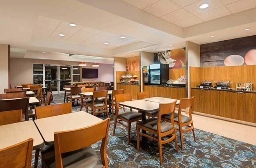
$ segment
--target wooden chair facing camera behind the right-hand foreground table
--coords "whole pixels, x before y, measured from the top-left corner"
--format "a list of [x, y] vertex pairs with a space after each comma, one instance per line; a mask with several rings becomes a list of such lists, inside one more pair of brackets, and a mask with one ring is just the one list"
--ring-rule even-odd
[[[49, 92], [48, 92], [49, 93]], [[46, 96], [47, 97], [47, 96]], [[72, 103], [54, 104], [50, 106], [38, 106], [35, 108], [36, 119], [58, 116], [62, 114], [68, 114], [72, 112]], [[42, 146], [40, 149], [42, 156], [42, 168], [44, 168], [44, 158], [54, 153], [54, 145]], [[36, 150], [35, 158], [38, 158], [39, 150]]]

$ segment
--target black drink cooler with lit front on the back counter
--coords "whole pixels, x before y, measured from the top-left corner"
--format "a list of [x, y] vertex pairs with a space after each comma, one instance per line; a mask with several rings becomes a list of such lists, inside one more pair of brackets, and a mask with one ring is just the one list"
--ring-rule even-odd
[[149, 65], [150, 84], [162, 85], [169, 80], [169, 64]]

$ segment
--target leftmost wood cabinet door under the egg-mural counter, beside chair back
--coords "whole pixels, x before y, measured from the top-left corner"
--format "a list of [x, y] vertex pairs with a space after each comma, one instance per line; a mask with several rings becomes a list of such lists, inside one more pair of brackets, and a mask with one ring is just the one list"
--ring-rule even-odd
[[192, 111], [204, 113], [204, 90], [192, 89], [191, 96], [194, 96]]

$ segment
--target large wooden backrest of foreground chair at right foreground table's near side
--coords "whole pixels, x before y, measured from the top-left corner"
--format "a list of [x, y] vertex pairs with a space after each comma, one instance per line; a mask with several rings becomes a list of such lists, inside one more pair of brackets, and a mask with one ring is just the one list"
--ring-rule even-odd
[[62, 168], [62, 153], [79, 150], [102, 140], [100, 156], [103, 166], [108, 167], [106, 145], [110, 118], [98, 124], [76, 130], [54, 132], [55, 167]]

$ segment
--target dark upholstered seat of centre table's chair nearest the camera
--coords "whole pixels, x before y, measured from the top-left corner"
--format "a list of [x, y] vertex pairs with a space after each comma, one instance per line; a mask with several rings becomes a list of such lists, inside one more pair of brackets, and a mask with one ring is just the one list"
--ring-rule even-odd
[[[150, 118], [146, 121], [140, 121], [138, 122], [140, 126], [144, 126], [146, 128], [149, 128], [151, 130], [157, 131], [157, 118]], [[166, 122], [161, 120], [161, 132], [169, 131], [173, 128], [172, 124], [170, 122]]]

